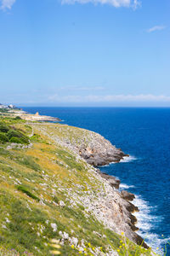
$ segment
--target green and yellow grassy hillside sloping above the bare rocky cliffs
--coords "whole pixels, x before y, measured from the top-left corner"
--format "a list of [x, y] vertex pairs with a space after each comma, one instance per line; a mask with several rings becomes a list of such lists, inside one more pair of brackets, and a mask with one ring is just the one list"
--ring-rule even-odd
[[105, 187], [93, 167], [50, 139], [65, 129], [0, 118], [0, 255], [150, 255], [82, 206], [81, 195]]

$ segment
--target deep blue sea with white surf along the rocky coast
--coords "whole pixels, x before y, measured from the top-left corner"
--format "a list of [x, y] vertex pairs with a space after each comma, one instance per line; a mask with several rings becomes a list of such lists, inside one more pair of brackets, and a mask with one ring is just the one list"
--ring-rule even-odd
[[[170, 108], [23, 108], [99, 132], [130, 157], [101, 168], [136, 195], [139, 235], [155, 250], [170, 238]], [[167, 245], [167, 255], [170, 247]]]

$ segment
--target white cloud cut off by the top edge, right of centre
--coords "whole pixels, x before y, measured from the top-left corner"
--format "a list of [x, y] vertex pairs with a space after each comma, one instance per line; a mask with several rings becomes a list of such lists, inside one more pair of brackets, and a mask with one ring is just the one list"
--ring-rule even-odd
[[133, 9], [136, 9], [140, 5], [138, 0], [62, 0], [61, 3], [101, 3], [110, 4], [116, 8], [132, 7]]

